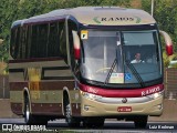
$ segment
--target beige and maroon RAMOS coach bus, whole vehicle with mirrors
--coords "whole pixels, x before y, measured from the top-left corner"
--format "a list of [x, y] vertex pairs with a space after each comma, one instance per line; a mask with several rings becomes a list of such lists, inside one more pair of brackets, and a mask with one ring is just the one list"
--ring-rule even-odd
[[145, 127], [163, 112], [160, 34], [173, 54], [150, 14], [118, 7], [60, 9], [13, 22], [13, 113], [28, 124], [64, 117], [69, 126], [96, 127], [117, 119]]

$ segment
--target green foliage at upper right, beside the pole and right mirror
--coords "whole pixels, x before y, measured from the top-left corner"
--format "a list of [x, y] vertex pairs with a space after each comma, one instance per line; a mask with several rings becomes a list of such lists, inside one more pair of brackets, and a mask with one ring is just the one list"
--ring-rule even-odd
[[[150, 13], [150, 1], [142, 0], [143, 9]], [[177, 2], [176, 0], [155, 0], [154, 18], [160, 30], [166, 31], [173, 39], [174, 50], [177, 51]], [[165, 50], [165, 45], [163, 45]]]

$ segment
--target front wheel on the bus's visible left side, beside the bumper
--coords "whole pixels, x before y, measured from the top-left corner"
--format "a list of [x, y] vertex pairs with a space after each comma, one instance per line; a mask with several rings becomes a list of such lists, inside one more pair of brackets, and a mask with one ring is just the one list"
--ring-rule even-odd
[[66, 100], [64, 104], [64, 115], [65, 115], [65, 121], [70, 127], [79, 127], [80, 126], [80, 119], [74, 117], [71, 115], [71, 104], [69, 103], [69, 99]]

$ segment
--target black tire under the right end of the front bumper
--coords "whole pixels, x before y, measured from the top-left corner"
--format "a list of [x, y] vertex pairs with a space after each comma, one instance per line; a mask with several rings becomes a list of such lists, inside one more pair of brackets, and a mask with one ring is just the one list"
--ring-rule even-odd
[[134, 120], [136, 129], [146, 129], [148, 116], [137, 116]]

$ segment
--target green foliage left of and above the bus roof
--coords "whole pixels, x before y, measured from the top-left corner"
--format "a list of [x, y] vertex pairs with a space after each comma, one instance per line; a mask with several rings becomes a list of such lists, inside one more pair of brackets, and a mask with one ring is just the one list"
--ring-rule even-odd
[[124, 6], [129, 7], [131, 0], [1, 0], [0, 38], [4, 40], [0, 47], [0, 59], [8, 61], [10, 27], [13, 21], [30, 18], [62, 8], [81, 6]]

